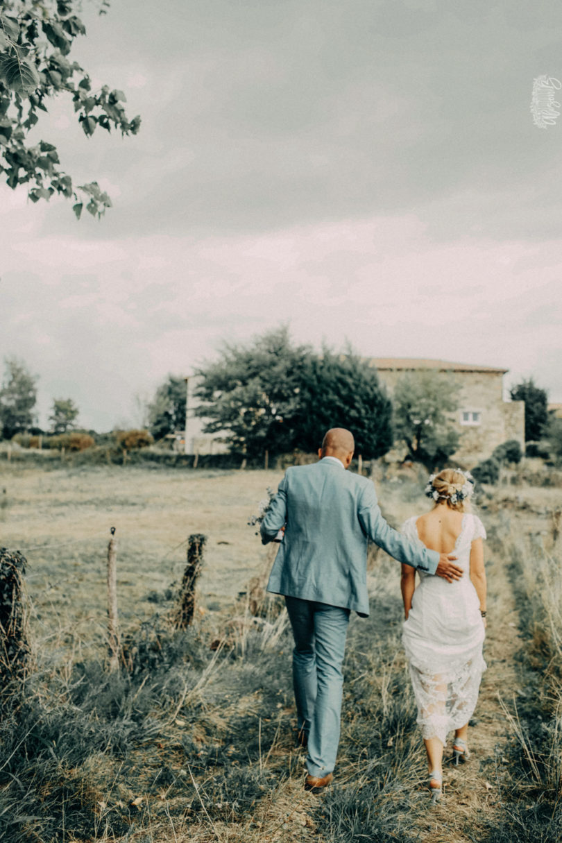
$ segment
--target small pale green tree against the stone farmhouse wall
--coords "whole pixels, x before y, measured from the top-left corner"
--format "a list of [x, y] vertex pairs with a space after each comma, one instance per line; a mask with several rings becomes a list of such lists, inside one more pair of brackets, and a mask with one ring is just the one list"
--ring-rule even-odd
[[458, 384], [440, 372], [406, 374], [394, 389], [394, 425], [411, 459], [432, 470], [458, 448], [459, 435], [448, 414], [458, 410]]

